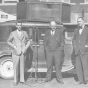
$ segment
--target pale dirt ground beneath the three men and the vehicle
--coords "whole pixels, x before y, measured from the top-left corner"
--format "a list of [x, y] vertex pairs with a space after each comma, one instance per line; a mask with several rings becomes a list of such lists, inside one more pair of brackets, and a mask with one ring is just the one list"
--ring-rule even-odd
[[[33, 74], [34, 76], [34, 74]], [[32, 76], [32, 77], [33, 77]], [[17, 86], [13, 86], [13, 79], [5, 80], [0, 78], [0, 88], [88, 88], [85, 87], [84, 84], [77, 85], [77, 77], [74, 71], [72, 72], [65, 72], [62, 74], [64, 84], [59, 84], [56, 81], [55, 73], [52, 74], [52, 81], [48, 83], [44, 83], [43, 80], [45, 79], [45, 73], [39, 73], [40, 79], [35, 82], [34, 78], [30, 78], [29, 73], [26, 73], [25, 84], [18, 83]]]

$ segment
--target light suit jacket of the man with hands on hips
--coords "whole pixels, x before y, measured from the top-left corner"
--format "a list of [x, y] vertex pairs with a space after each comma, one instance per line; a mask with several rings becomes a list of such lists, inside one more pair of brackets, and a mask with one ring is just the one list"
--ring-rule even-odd
[[[29, 37], [26, 31], [22, 30], [21, 33], [21, 36], [19, 36], [17, 30], [15, 30], [10, 33], [10, 36], [7, 40], [7, 43], [13, 48], [13, 53], [16, 55], [23, 53], [23, 49], [27, 50], [30, 45]], [[17, 49], [15, 50], [14, 47]]]

